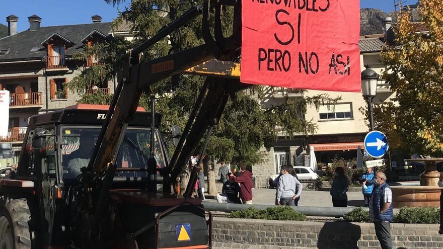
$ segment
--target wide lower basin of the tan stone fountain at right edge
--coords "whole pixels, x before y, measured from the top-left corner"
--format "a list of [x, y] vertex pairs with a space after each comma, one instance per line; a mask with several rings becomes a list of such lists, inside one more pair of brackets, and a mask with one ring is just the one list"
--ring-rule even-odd
[[441, 189], [438, 186], [392, 186], [394, 208], [440, 207]]

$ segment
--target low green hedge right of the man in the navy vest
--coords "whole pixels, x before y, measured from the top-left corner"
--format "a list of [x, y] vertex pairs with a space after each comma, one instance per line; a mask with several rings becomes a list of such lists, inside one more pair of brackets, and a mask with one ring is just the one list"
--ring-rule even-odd
[[431, 207], [402, 207], [394, 215], [395, 223], [440, 223], [440, 210]]

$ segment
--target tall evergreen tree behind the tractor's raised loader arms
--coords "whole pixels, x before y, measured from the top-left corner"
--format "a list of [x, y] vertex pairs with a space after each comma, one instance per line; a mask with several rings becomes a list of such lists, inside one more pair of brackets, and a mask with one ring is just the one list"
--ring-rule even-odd
[[[119, 4], [120, 0], [106, 0], [109, 4]], [[200, 1], [201, 2], [201, 1]], [[69, 88], [79, 93], [85, 91], [92, 82], [110, 80], [122, 68], [119, 55], [134, 47], [145, 39], [155, 35], [162, 27], [188, 11], [195, 2], [180, 2], [172, 0], [133, 0], [128, 8], [120, 13], [114, 25], [121, 22], [131, 24], [135, 39], [128, 42], [115, 39], [107, 44], [95, 48], [86, 48], [79, 56], [100, 53], [104, 65], [92, 66], [85, 69], [81, 75], [69, 82]], [[224, 9], [223, 22], [225, 35], [230, 35], [230, 24], [233, 20], [233, 10]], [[203, 44], [201, 33], [201, 18], [197, 18], [182, 27], [180, 32], [171, 35], [145, 51], [141, 59], [146, 60], [167, 55], [171, 52], [195, 47]], [[195, 75], [178, 75], [162, 80], [153, 85], [142, 95], [139, 105], [149, 110], [149, 95], [157, 98], [156, 109], [163, 114], [161, 129], [170, 131], [172, 124], [182, 129], [186, 124], [195, 99], [203, 85], [204, 77]], [[269, 89], [268, 89], [269, 90]], [[286, 98], [281, 104], [270, 108], [263, 108], [260, 100], [264, 97], [264, 87], [253, 87], [237, 94], [236, 100], [230, 100], [219, 123], [212, 132], [206, 151], [209, 160], [208, 192], [216, 193], [214, 164], [218, 160], [247, 162], [251, 165], [262, 161], [262, 147], [269, 149], [278, 138], [276, 126], [286, 131], [289, 137], [294, 133], [314, 133], [316, 125], [310, 120], [301, 118], [309, 105], [318, 107], [321, 104], [333, 103], [338, 99], [331, 99], [328, 95], [305, 97], [292, 100]], [[271, 89], [272, 91], [272, 89]], [[84, 96], [81, 103], [93, 103], [94, 98], [102, 104], [103, 96]], [[107, 99], [109, 101], [109, 99]], [[172, 149], [172, 148], [171, 148]], [[186, 182], [186, 181], [184, 181]]]

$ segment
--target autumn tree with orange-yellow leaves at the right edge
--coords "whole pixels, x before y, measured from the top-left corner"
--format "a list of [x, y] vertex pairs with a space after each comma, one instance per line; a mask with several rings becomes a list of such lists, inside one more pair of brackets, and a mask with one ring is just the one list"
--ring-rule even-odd
[[382, 106], [380, 126], [398, 148], [410, 153], [443, 153], [443, 5], [422, 0], [419, 9], [428, 32], [416, 32], [409, 10], [395, 27], [396, 44], [382, 52], [388, 67], [394, 104]]

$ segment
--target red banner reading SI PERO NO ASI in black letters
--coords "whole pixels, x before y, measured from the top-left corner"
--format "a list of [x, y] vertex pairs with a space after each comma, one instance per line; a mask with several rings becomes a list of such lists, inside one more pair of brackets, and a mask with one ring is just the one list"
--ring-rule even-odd
[[361, 92], [358, 0], [242, 0], [241, 81]]

